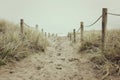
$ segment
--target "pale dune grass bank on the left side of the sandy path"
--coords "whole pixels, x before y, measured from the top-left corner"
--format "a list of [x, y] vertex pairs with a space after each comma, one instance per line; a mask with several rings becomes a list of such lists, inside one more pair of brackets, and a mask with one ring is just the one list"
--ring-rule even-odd
[[47, 45], [47, 40], [39, 30], [24, 27], [24, 34], [21, 34], [18, 25], [0, 20], [0, 65], [44, 52]]

